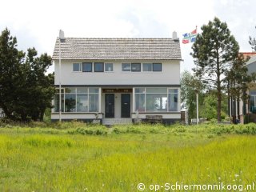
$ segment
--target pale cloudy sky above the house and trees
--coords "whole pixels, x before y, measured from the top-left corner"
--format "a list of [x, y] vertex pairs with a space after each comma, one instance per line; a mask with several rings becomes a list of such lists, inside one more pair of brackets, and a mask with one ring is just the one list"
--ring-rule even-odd
[[[8, 0], [0, 3], [0, 30], [18, 38], [18, 47], [52, 55], [58, 31], [69, 38], [171, 38], [207, 24], [226, 22], [241, 52], [256, 37], [255, 0]], [[182, 45], [182, 70], [194, 67], [191, 44]], [[52, 69], [51, 69], [52, 70]]]

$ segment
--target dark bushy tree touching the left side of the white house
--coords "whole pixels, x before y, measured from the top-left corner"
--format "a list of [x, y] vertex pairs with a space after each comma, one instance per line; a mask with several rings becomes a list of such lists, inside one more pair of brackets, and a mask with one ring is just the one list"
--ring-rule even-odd
[[37, 50], [34, 48], [27, 50], [26, 61], [23, 66], [23, 78], [25, 83], [19, 95], [23, 95], [22, 109], [18, 111], [22, 114], [22, 120], [26, 117], [34, 121], [43, 120], [43, 115], [47, 107], [51, 107], [51, 100], [54, 96], [53, 74], [45, 75], [47, 68], [52, 64], [51, 57], [42, 54], [37, 57]]

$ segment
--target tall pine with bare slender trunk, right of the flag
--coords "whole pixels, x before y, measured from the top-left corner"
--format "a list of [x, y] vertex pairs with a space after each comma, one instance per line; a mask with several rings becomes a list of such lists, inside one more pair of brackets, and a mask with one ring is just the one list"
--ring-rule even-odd
[[202, 26], [192, 46], [195, 75], [202, 80], [209, 90], [217, 90], [218, 121], [221, 121], [222, 92], [226, 90], [225, 75], [230, 70], [231, 62], [238, 57], [238, 42], [230, 34], [226, 22], [214, 18], [213, 22]]

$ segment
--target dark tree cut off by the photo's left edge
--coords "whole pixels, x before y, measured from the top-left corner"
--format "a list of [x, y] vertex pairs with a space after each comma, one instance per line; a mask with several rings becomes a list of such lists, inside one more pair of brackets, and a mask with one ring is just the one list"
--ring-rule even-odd
[[14, 118], [17, 91], [21, 88], [21, 62], [25, 57], [17, 48], [17, 39], [10, 36], [9, 30], [3, 30], [0, 36], [0, 106], [7, 118]]

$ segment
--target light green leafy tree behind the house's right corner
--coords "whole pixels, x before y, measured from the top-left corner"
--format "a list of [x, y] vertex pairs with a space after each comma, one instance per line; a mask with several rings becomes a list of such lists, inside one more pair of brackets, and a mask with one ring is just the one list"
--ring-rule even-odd
[[[189, 118], [196, 118], [196, 91], [199, 96], [199, 106], [202, 106], [203, 94], [202, 83], [190, 72], [184, 71], [181, 78], [181, 100], [183, 108], [188, 110]], [[201, 107], [199, 107], [201, 109]]]

